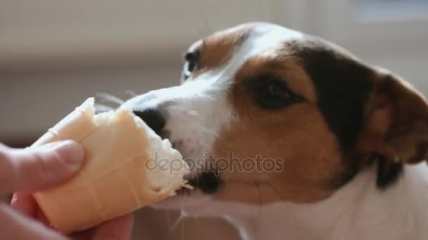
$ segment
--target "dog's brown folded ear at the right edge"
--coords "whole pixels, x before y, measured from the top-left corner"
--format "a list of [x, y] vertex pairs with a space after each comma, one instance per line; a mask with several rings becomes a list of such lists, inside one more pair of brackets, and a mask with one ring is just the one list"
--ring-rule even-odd
[[366, 109], [360, 150], [380, 154], [391, 164], [427, 159], [428, 104], [410, 84], [379, 70]]

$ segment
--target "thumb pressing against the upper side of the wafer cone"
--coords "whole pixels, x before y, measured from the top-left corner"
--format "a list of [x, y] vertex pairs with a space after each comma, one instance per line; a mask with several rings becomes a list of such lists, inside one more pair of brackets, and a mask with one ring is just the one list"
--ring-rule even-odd
[[72, 140], [11, 149], [0, 146], [1, 192], [34, 191], [70, 178], [80, 168], [84, 150]]

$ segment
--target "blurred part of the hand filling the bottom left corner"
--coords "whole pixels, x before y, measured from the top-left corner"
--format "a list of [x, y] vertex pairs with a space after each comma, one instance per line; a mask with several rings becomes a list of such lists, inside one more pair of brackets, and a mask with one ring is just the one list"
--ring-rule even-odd
[[5, 204], [0, 204], [0, 226], [0, 239], [66, 239], [38, 222], [25, 218]]

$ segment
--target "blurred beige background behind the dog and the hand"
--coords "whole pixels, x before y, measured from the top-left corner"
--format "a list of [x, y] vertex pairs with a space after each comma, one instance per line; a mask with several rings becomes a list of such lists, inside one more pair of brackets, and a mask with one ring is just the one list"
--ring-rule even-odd
[[[30, 144], [96, 93], [176, 85], [189, 44], [248, 21], [322, 36], [428, 93], [425, 0], [0, 0], [0, 142]], [[237, 239], [220, 220], [172, 227], [178, 215], [144, 209], [135, 239]]]

